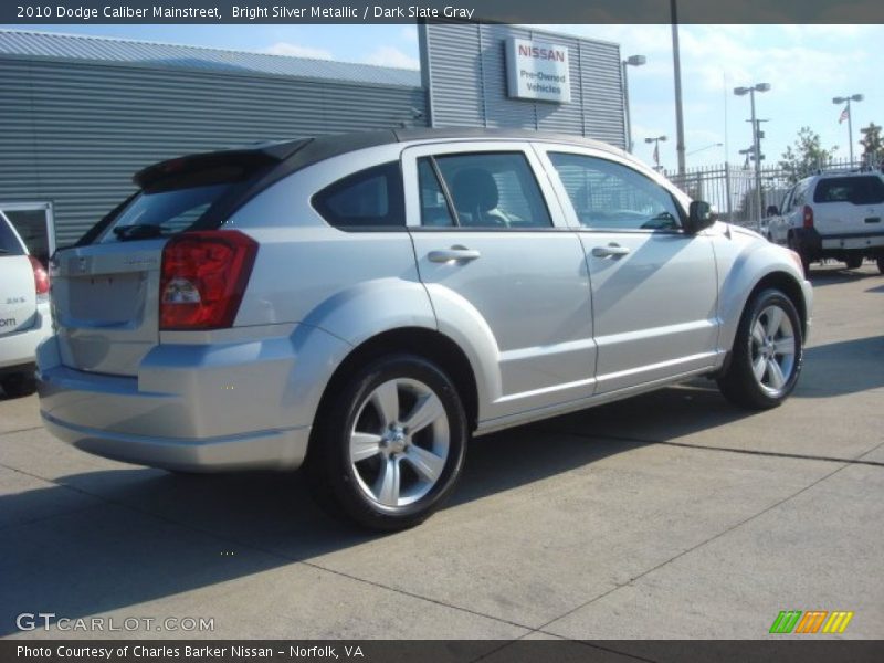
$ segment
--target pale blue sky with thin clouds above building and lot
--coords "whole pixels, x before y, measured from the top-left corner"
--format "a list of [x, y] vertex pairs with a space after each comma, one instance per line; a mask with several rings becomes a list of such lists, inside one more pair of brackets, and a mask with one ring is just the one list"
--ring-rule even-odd
[[[392, 25], [9, 25], [14, 29], [97, 34], [256, 51], [302, 57], [365, 62], [418, 69], [417, 27]], [[634, 154], [650, 162], [648, 137], [666, 136], [661, 164], [676, 168], [675, 92], [670, 25], [538, 25], [578, 36], [614, 42], [623, 59], [648, 61], [629, 67]], [[725, 160], [741, 165], [751, 145], [749, 97], [737, 86], [769, 83], [756, 93], [757, 117], [766, 134], [765, 165], [776, 165], [799, 129], [809, 126], [825, 148], [849, 156], [848, 123], [835, 96], [863, 94], [851, 104], [854, 154], [860, 128], [884, 124], [884, 25], [681, 25], [685, 151], [687, 167]], [[717, 144], [722, 144], [718, 146]]]

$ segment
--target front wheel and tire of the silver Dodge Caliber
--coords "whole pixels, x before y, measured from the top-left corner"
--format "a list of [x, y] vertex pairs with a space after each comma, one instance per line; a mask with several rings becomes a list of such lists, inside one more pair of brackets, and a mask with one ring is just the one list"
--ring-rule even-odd
[[718, 388], [743, 408], [776, 408], [794, 389], [803, 357], [794, 304], [778, 290], [761, 291], [743, 312], [730, 364], [718, 378]]

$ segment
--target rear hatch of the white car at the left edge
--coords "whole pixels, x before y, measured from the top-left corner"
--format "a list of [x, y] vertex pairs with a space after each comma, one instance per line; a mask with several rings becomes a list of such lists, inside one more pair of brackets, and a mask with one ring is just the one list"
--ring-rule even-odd
[[29, 329], [35, 319], [33, 266], [19, 238], [0, 217], [0, 336]]

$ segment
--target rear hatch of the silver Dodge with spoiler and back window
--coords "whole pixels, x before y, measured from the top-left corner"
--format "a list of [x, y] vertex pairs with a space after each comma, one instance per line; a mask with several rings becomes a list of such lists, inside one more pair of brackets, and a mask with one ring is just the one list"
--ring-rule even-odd
[[159, 343], [160, 267], [168, 239], [217, 229], [299, 145], [196, 155], [137, 173], [139, 191], [52, 260], [62, 364], [137, 375]]

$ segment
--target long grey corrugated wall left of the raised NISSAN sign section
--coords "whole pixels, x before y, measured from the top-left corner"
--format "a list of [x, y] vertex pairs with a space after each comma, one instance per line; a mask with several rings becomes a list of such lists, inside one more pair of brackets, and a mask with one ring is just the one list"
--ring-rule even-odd
[[160, 159], [425, 124], [420, 87], [21, 59], [0, 59], [0, 200], [52, 202], [60, 246]]

